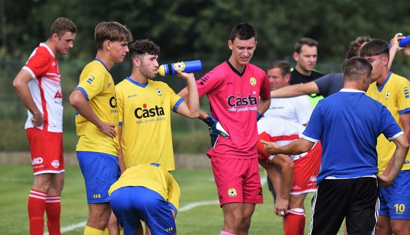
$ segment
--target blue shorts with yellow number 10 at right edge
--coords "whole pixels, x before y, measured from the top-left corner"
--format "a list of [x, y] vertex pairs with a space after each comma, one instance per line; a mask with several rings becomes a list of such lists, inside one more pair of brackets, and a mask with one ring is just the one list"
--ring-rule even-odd
[[380, 188], [379, 215], [410, 220], [410, 170], [402, 170], [391, 186]]

